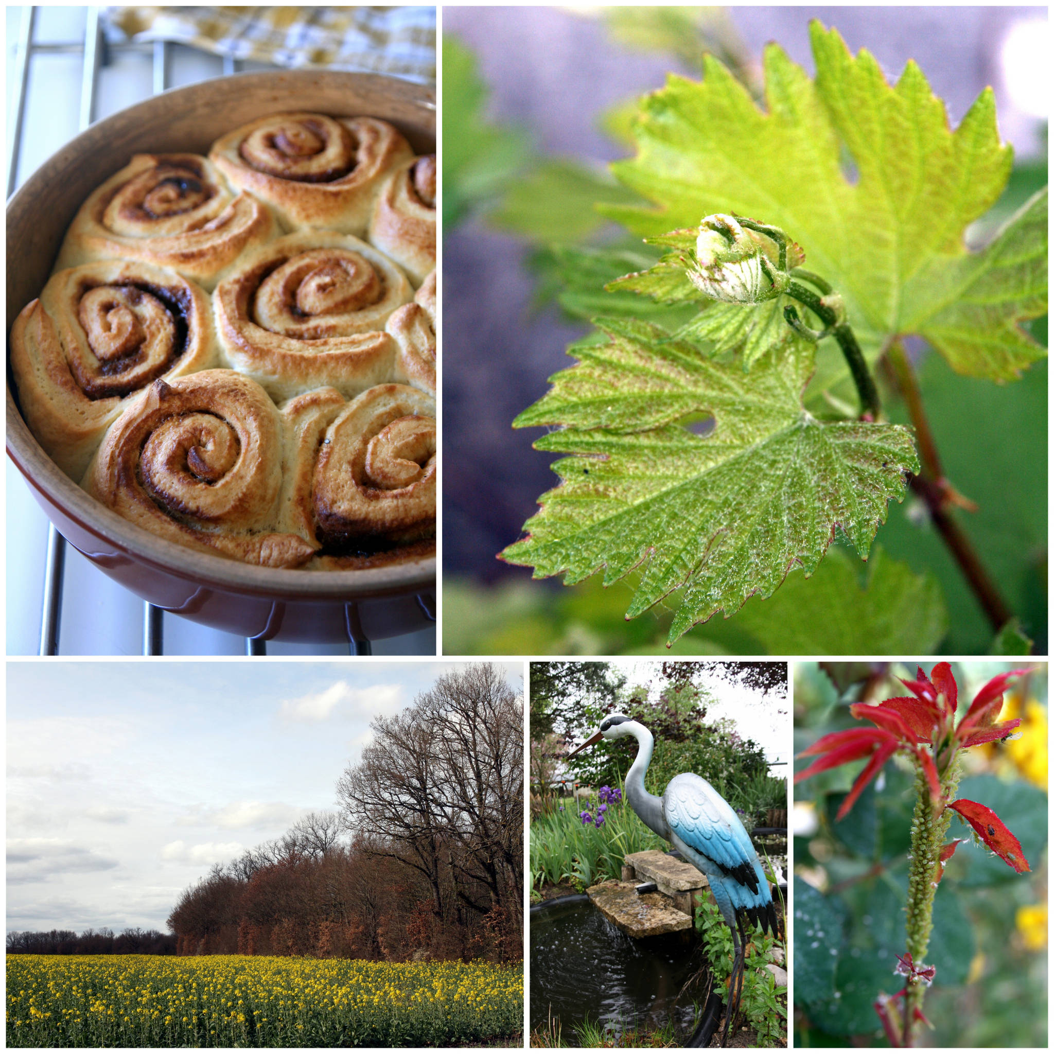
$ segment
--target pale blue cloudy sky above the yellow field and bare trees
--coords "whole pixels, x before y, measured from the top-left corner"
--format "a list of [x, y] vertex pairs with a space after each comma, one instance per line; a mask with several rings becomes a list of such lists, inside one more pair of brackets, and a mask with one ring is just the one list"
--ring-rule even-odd
[[370, 721], [458, 665], [8, 662], [7, 930], [165, 931], [213, 862], [334, 808]]

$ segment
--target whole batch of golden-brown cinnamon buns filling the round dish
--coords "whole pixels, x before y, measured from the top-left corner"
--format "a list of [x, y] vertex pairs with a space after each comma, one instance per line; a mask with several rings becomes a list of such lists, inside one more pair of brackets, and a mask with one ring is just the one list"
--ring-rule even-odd
[[[434, 157], [373, 118], [278, 115], [210, 158], [136, 155], [12, 330], [27, 424], [89, 493], [200, 551], [434, 554]], [[349, 233], [371, 217], [421, 266], [416, 295]]]

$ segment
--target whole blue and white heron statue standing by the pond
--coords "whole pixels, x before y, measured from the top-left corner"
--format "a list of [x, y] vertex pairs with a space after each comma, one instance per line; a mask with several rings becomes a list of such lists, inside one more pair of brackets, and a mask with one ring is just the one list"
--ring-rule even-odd
[[639, 721], [624, 714], [612, 714], [567, 757], [573, 758], [602, 739], [623, 736], [632, 736], [640, 745], [626, 774], [626, 800], [646, 826], [660, 838], [672, 842], [681, 856], [706, 876], [721, 917], [731, 931], [733, 968], [721, 1036], [724, 1047], [728, 1040], [728, 1026], [739, 1016], [746, 924], [760, 925], [762, 932], [777, 935], [776, 909], [768, 883], [746, 828], [728, 802], [701, 776], [692, 773], [675, 776], [661, 798], [644, 789], [644, 774], [651, 763], [655, 738]]

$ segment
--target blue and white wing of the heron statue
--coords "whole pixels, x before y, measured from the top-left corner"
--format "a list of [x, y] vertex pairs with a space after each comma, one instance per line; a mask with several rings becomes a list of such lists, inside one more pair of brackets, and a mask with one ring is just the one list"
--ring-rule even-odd
[[[723, 875], [755, 894], [765, 889], [749, 835], [728, 802], [701, 776], [675, 776], [663, 795], [663, 809], [670, 831]], [[713, 871], [708, 867], [706, 874]]]

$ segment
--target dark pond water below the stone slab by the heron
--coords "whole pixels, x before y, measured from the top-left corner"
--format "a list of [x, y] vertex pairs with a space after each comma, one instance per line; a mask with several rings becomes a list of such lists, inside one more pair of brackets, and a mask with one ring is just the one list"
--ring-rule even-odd
[[546, 905], [530, 918], [531, 1028], [544, 1028], [551, 1011], [573, 1046], [571, 1029], [586, 1016], [621, 1032], [674, 1014], [684, 1035], [695, 1009], [688, 993], [680, 1004], [678, 996], [702, 962], [690, 934], [635, 940], [588, 900]]

